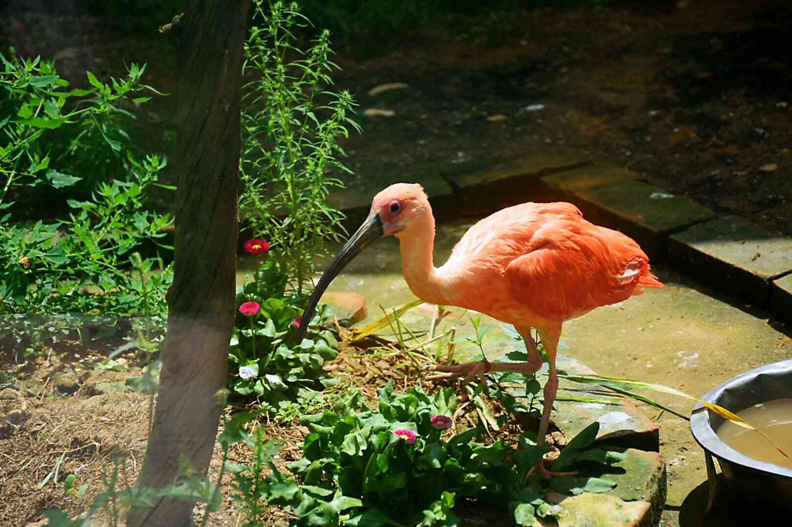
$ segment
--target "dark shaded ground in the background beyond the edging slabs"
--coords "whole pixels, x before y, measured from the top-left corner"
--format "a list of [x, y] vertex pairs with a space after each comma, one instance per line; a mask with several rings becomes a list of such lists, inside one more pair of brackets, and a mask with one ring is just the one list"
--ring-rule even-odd
[[[343, 145], [356, 175], [344, 177], [364, 199], [413, 173], [569, 149], [792, 233], [788, 2], [301, 3], [333, 29], [334, 80], [360, 103], [364, 134]], [[146, 81], [172, 92], [173, 52], [156, 28], [179, 5], [6, 0], [0, 48], [54, 57], [75, 86], [86, 69], [117, 77], [147, 63]], [[386, 82], [409, 87], [367, 95]], [[141, 146], [172, 154], [173, 107], [165, 97], [139, 108]]]

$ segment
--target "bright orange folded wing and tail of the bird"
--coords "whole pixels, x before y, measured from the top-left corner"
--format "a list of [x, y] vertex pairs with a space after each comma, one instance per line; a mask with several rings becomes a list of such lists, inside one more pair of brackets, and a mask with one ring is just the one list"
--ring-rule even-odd
[[504, 274], [515, 298], [550, 320], [626, 300], [640, 294], [638, 286], [661, 286], [638, 244], [582, 218], [547, 222], [532, 242]]

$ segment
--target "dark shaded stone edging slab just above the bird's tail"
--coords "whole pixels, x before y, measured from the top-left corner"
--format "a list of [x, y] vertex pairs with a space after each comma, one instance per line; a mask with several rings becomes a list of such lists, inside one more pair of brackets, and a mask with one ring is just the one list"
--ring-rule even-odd
[[668, 233], [716, 216], [691, 199], [630, 179], [577, 191], [573, 203], [589, 221], [634, 238], [654, 260], [664, 259]]

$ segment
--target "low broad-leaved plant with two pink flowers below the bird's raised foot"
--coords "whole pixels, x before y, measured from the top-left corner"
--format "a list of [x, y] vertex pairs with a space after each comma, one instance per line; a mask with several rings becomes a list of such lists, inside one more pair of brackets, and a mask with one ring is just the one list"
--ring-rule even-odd
[[[529, 475], [546, 452], [531, 434], [520, 437], [518, 449], [501, 440], [477, 442], [483, 427], [448, 437], [450, 430], [445, 430], [457, 404], [450, 388], [431, 397], [420, 388], [397, 393], [388, 383], [377, 393], [376, 411], [352, 392], [332, 410], [301, 418], [310, 434], [303, 458], [288, 465], [297, 481], [272, 461], [272, 472], [264, 478], [260, 465], [231, 469], [247, 482], [246, 488], [256, 484], [255, 496], [294, 514], [293, 525], [459, 525], [453, 508], [461, 498], [499, 502], [517, 525], [558, 514], [544, 499], [547, 483]], [[598, 429], [593, 423], [581, 432], [558, 462], [579, 468], [581, 462], [623, 460], [625, 454], [618, 451], [590, 448]], [[581, 472], [554, 478], [550, 486], [580, 494], [610, 490], [615, 483]], [[246, 495], [250, 499], [253, 495]]]

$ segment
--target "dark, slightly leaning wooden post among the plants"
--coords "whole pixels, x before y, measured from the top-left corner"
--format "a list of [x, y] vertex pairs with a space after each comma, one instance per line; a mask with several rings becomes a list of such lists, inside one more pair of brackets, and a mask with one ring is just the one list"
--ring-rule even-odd
[[[162, 373], [139, 482], [164, 487], [179, 458], [208, 471], [234, 325], [242, 55], [250, 0], [192, 0], [177, 46], [178, 156], [174, 279]], [[195, 504], [161, 499], [128, 525], [190, 525]]]

